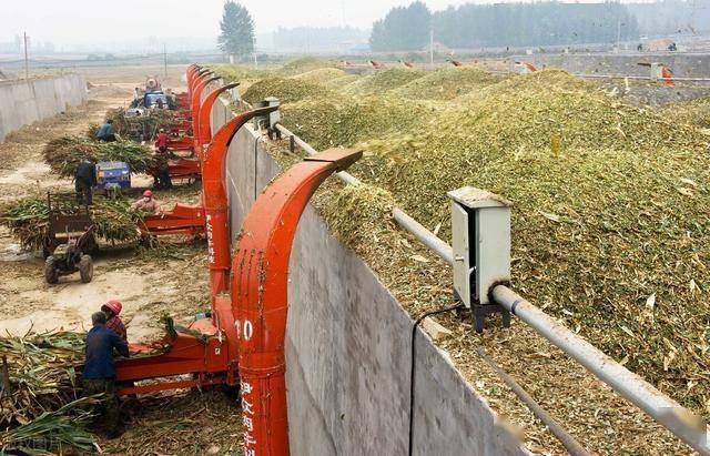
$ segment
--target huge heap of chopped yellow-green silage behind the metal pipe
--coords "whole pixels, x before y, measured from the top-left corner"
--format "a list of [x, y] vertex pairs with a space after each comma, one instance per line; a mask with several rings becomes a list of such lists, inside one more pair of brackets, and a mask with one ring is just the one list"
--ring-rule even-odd
[[[693, 108], [680, 122], [660, 110], [625, 105], [597, 85], [552, 70], [497, 83], [481, 75], [465, 93], [456, 90], [459, 83], [442, 83], [440, 97], [435, 84], [418, 85], [425, 79], [447, 81], [455, 70], [404, 83], [399, 75], [407, 70], [400, 70], [377, 89], [368, 88], [373, 77], [367, 84], [362, 78], [329, 104], [310, 85], [308, 94], [284, 103], [282, 121], [318, 149], [365, 141], [365, 158], [353, 172], [388, 191], [429, 229], [440, 226], [449, 242], [447, 191], [475, 185], [511, 200], [514, 287], [708, 416], [704, 111]], [[263, 94], [274, 94], [268, 84], [262, 81]], [[426, 109], [430, 104], [399, 100], [402, 120], [393, 122], [399, 118], [395, 98], [382, 92], [415, 98], [419, 89], [422, 98], [440, 104]], [[362, 97], [374, 92], [379, 95]], [[368, 116], [368, 109], [378, 114]], [[352, 196], [343, 201], [373, 201]], [[347, 235], [363, 219], [349, 213], [341, 220], [326, 211], [354, 247], [375, 242]]]

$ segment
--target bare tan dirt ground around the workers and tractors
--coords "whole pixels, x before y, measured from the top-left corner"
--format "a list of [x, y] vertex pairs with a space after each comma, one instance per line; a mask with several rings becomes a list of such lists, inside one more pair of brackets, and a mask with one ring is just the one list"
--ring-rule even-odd
[[[0, 203], [47, 191], [72, 191], [42, 160], [43, 145], [63, 134], [82, 134], [104, 119], [108, 109], [128, 105], [132, 89], [155, 74], [151, 68], [83, 69], [90, 100], [51, 119], [26, 125], [0, 143]], [[166, 79], [182, 91], [178, 68]], [[146, 176], [138, 178], [150, 182]], [[155, 192], [171, 202], [195, 202], [199, 186]], [[22, 252], [17, 240], [0, 229], [0, 333], [23, 335], [55, 328], [88, 330], [90, 316], [109, 298], [123, 303], [121, 316], [130, 342], [161, 337], [163, 314], [179, 324], [209, 308], [205, 244], [161, 243], [155, 249], [109, 246], [94, 257], [94, 278], [82, 284], [78, 274], [48, 285], [41, 254]], [[126, 403], [126, 433], [100, 440], [113, 454], [240, 454], [240, 413], [236, 402], [219, 391], [183, 392], [172, 398]]]

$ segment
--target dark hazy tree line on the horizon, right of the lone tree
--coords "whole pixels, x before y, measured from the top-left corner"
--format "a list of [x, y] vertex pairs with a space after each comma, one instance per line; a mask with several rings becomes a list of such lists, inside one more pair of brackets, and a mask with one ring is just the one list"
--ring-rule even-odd
[[373, 24], [374, 51], [426, 48], [434, 39], [449, 48], [581, 44], [635, 40], [636, 17], [621, 3], [466, 3], [432, 13], [417, 1], [392, 9]]

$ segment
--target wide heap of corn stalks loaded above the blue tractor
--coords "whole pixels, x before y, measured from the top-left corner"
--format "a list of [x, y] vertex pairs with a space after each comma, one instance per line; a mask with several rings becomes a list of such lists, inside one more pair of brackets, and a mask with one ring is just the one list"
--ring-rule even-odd
[[73, 178], [82, 160], [121, 161], [131, 172], [142, 173], [153, 165], [150, 148], [132, 141], [93, 141], [85, 136], [61, 136], [47, 143], [44, 161], [51, 170], [63, 178]]

